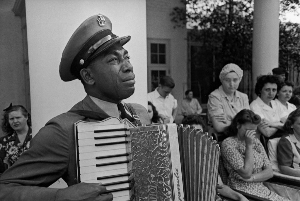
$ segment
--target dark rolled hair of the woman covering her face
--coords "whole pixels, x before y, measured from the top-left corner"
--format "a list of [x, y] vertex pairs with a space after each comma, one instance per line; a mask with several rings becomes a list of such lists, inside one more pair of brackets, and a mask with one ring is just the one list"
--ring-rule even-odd
[[238, 133], [238, 124], [259, 124], [261, 118], [259, 115], [256, 115], [254, 112], [252, 112], [250, 109], [243, 109], [240, 112], [238, 112], [235, 117], [232, 119], [232, 122], [230, 126], [228, 127], [226, 134], [227, 136], [234, 136]]

